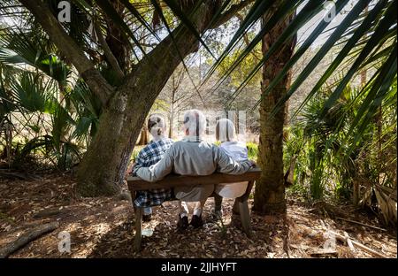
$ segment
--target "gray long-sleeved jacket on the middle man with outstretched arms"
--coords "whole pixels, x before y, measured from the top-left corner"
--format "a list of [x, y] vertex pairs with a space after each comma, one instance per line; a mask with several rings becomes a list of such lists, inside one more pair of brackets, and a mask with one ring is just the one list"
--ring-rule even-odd
[[188, 136], [174, 142], [157, 164], [142, 167], [136, 173], [142, 180], [155, 182], [172, 172], [180, 175], [209, 175], [216, 171], [242, 174], [246, 173], [251, 165], [250, 161], [234, 161], [223, 149], [210, 142]]

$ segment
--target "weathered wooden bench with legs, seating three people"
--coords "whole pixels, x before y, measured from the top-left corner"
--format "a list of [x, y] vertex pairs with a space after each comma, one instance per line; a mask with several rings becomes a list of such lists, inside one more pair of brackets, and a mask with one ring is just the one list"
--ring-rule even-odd
[[[219, 184], [219, 183], [235, 183], [241, 181], [248, 181], [249, 185], [243, 196], [235, 199], [233, 204], [233, 211], [239, 212], [241, 216], [241, 226], [243, 231], [250, 235], [250, 217], [249, 217], [249, 205], [248, 199], [253, 188], [255, 180], [260, 178], [261, 170], [259, 168], [253, 168], [247, 173], [241, 175], [232, 175], [224, 173], [213, 173], [206, 176], [182, 176], [169, 174], [163, 180], [157, 182], [147, 182], [140, 179], [139, 177], [128, 177], [127, 184], [128, 189], [131, 192], [133, 203], [135, 198], [135, 192], [140, 190], [148, 190], [149, 188], [175, 188], [175, 187], [192, 187], [197, 184]], [[214, 195], [211, 195], [214, 196]], [[210, 196], [210, 197], [211, 197]], [[135, 217], [135, 237], [134, 237], [134, 249], [136, 251], [141, 250], [142, 241], [142, 208], [134, 205], [134, 217]]]

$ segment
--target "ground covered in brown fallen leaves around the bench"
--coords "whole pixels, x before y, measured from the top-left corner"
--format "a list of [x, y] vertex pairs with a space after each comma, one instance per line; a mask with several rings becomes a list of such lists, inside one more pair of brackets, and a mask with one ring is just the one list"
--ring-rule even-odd
[[[386, 257], [397, 257], [396, 228], [377, 229], [375, 216], [351, 205], [308, 204], [287, 200], [287, 214], [251, 214], [253, 235], [248, 238], [232, 215], [233, 201], [224, 203], [223, 224], [210, 219], [210, 199], [202, 229], [176, 231], [177, 205], [164, 203], [143, 229], [142, 252], [134, 253], [134, 211], [119, 197], [78, 198], [75, 181], [69, 175], [48, 174], [33, 180], [0, 179], [0, 249], [34, 227], [57, 221], [56, 230], [28, 243], [10, 257], [376, 257], [364, 249], [354, 250], [337, 241], [325, 249], [329, 231], [346, 232]], [[253, 200], [249, 200], [251, 206]], [[368, 226], [349, 222], [350, 219]], [[374, 226], [374, 227], [371, 227]], [[60, 253], [58, 234], [71, 237], [70, 253]], [[330, 237], [330, 236], [329, 236]]]

